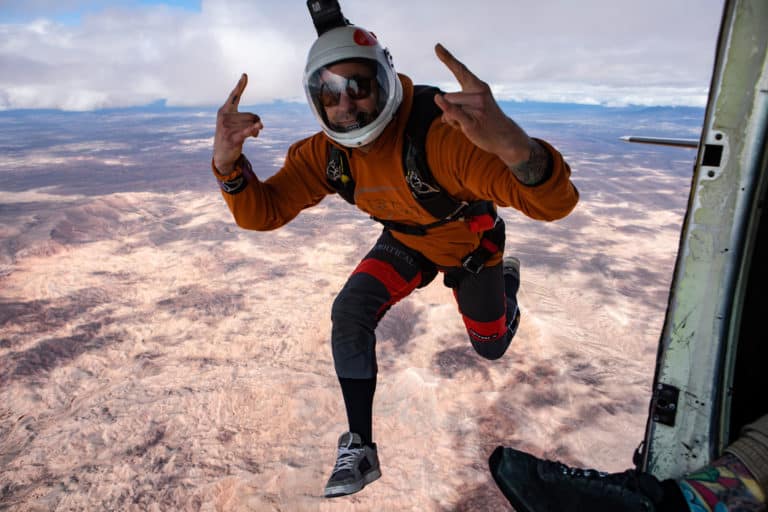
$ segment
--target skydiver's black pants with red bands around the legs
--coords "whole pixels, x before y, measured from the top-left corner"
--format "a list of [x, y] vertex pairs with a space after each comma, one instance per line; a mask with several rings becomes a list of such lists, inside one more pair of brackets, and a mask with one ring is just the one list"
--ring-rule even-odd
[[[505, 294], [502, 265], [485, 267], [477, 274], [463, 268], [440, 270], [445, 284], [453, 289], [475, 351], [486, 359], [501, 357], [514, 336], [511, 326], [517, 314], [516, 298]], [[434, 263], [384, 231], [333, 303], [331, 342], [339, 378], [376, 377], [379, 320], [416, 288], [429, 284], [437, 272]]]

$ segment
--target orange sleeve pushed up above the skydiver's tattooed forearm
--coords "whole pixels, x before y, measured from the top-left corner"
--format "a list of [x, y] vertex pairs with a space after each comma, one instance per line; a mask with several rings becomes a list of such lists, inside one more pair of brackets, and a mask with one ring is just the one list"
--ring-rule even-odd
[[[427, 159], [433, 170], [449, 169], [445, 187], [457, 197], [493, 201], [536, 220], [558, 220], [576, 207], [579, 191], [571, 182], [571, 168], [563, 156], [549, 143], [535, 140], [552, 156], [552, 173], [534, 186], [521, 183], [499, 157], [479, 149], [461, 131], [440, 122], [430, 128]], [[442, 171], [441, 176], [444, 174]], [[437, 179], [442, 183], [441, 178]]]

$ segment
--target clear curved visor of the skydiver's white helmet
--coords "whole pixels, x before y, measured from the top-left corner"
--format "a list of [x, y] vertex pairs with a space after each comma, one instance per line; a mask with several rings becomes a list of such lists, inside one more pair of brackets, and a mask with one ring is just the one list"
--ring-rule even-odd
[[321, 121], [339, 133], [375, 121], [389, 97], [387, 72], [371, 59], [322, 66], [309, 76], [307, 88]]

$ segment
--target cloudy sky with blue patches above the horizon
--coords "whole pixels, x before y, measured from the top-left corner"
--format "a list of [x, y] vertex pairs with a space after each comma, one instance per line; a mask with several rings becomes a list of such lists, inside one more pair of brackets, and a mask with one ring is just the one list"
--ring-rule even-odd
[[[419, 83], [455, 90], [442, 42], [497, 97], [705, 103], [723, 0], [348, 0]], [[0, 0], [0, 109], [303, 101], [304, 0]]]

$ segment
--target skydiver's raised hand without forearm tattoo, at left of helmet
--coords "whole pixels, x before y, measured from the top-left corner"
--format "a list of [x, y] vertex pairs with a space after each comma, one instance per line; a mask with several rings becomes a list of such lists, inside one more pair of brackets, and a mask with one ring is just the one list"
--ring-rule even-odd
[[213, 164], [221, 174], [234, 170], [235, 162], [243, 152], [248, 137], [257, 137], [264, 129], [261, 119], [250, 112], [238, 112], [240, 98], [248, 85], [248, 75], [243, 73], [232, 89], [227, 101], [216, 114], [216, 134], [213, 138]]

